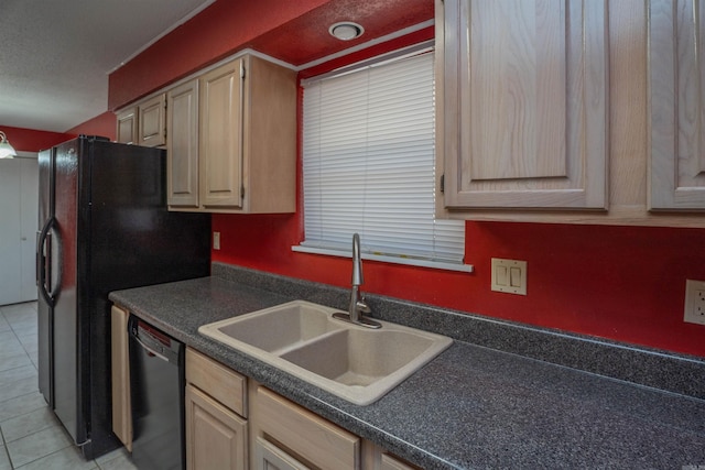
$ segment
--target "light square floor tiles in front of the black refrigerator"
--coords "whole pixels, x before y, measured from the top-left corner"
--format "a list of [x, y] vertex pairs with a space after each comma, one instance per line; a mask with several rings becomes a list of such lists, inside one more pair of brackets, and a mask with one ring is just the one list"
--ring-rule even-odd
[[0, 306], [0, 470], [134, 470], [118, 449], [83, 459], [37, 389], [36, 302]]

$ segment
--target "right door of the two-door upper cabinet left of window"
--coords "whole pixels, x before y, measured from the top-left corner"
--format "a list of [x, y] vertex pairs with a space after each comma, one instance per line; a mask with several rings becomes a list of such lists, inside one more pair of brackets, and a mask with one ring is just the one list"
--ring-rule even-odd
[[242, 206], [242, 59], [200, 78], [200, 205]]

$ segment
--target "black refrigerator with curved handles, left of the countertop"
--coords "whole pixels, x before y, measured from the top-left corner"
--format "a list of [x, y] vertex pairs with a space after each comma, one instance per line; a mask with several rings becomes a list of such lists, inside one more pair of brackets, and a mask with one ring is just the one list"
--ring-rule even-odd
[[166, 210], [164, 150], [82, 135], [39, 167], [40, 391], [94, 459], [120, 446], [108, 293], [207, 276], [210, 216]]

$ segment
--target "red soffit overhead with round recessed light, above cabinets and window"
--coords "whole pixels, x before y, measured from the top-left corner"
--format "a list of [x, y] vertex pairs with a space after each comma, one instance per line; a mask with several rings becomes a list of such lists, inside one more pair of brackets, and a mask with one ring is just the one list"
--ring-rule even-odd
[[[108, 109], [246, 47], [301, 65], [433, 19], [430, 0], [217, 0], [110, 74]], [[351, 18], [365, 34], [341, 42], [328, 26]]]

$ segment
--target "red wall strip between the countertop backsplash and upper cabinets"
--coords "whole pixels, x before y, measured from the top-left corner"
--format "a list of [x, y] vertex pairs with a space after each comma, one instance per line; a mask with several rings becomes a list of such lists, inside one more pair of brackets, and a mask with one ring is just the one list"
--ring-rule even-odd
[[[350, 260], [296, 253], [292, 216], [214, 215], [214, 261], [348, 286]], [[365, 262], [365, 292], [705, 357], [683, 323], [685, 280], [705, 280], [705, 230], [467, 222], [475, 272]], [[528, 295], [490, 291], [490, 259], [528, 261]]]

